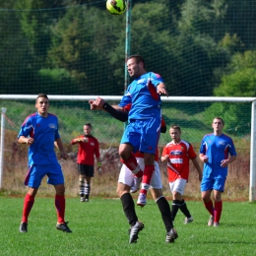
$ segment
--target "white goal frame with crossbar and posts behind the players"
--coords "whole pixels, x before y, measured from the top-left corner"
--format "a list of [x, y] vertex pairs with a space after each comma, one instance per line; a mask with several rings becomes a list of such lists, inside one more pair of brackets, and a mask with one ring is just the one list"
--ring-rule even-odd
[[[81, 100], [86, 101], [96, 96], [48, 96], [52, 100]], [[100, 96], [105, 100], [120, 100], [122, 96]], [[0, 95], [0, 99], [17, 100], [17, 99], [29, 99], [33, 100], [34, 95]], [[225, 96], [162, 96], [162, 101], [168, 102], [250, 102], [252, 104], [251, 110], [251, 142], [250, 142], [250, 184], [249, 184], [249, 202], [253, 202], [256, 199], [255, 191], [255, 176], [256, 176], [256, 97], [225, 97]], [[6, 111], [6, 109], [5, 109]], [[3, 112], [1, 113], [4, 114]], [[1, 123], [2, 127], [2, 123]], [[1, 129], [1, 133], [3, 133]], [[1, 136], [1, 148], [0, 148], [0, 162], [3, 163], [3, 150], [4, 143]], [[3, 164], [0, 164], [0, 188], [2, 187], [2, 173]]]

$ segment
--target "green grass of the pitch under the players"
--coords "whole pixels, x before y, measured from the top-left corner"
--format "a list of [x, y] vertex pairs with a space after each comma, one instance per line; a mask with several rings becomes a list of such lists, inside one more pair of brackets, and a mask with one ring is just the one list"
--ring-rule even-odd
[[183, 224], [179, 212], [175, 228], [179, 237], [165, 244], [165, 230], [157, 204], [150, 200], [136, 207], [145, 229], [136, 244], [128, 243], [127, 221], [118, 199], [93, 198], [81, 203], [67, 198], [66, 220], [73, 233], [55, 229], [53, 198], [36, 198], [29, 232], [20, 233], [23, 198], [0, 197], [1, 255], [254, 255], [256, 251], [255, 204], [224, 202], [219, 227], [209, 227], [202, 202], [187, 202], [194, 222]]

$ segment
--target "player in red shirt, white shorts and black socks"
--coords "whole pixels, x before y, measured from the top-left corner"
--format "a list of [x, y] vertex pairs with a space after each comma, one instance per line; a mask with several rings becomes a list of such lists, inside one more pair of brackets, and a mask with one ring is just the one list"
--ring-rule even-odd
[[167, 161], [169, 188], [173, 200], [171, 207], [172, 220], [174, 221], [178, 209], [180, 209], [186, 217], [184, 224], [189, 224], [193, 221], [193, 217], [190, 215], [182, 198], [188, 181], [189, 160], [193, 161], [200, 181], [202, 180], [202, 170], [197, 161], [197, 155], [194, 152], [193, 146], [180, 138], [180, 127], [172, 125], [169, 129], [169, 135], [172, 141], [164, 146], [161, 161]]

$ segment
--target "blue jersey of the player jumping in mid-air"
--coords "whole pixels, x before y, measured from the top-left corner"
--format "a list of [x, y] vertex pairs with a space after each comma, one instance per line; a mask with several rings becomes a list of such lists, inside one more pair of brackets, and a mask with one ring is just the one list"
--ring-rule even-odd
[[152, 117], [160, 119], [160, 95], [157, 93], [157, 86], [160, 83], [163, 83], [160, 75], [148, 72], [129, 85], [119, 103], [122, 107], [132, 104], [129, 120]]

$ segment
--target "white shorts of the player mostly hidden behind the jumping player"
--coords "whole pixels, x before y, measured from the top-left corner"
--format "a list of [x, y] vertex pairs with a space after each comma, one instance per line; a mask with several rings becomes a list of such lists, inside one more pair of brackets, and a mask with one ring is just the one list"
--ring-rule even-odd
[[[142, 158], [136, 158], [138, 164], [141, 166], [141, 169], [144, 170], [144, 159]], [[156, 188], [156, 189], [161, 189], [161, 178], [160, 178], [160, 165], [159, 162], [155, 160], [155, 171], [153, 172], [152, 179], [151, 179], [151, 187]], [[118, 183], [123, 183], [128, 186], [133, 185], [133, 177], [134, 174], [131, 172], [131, 170], [126, 167], [125, 164], [122, 165], [119, 178], [118, 178]]]

